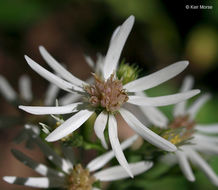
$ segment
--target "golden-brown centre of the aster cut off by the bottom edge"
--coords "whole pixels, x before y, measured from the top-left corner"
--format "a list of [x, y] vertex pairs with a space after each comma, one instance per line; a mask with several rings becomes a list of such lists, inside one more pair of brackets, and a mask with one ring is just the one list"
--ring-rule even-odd
[[90, 175], [88, 169], [84, 169], [81, 164], [77, 164], [74, 166], [67, 181], [68, 190], [92, 190], [95, 178]]

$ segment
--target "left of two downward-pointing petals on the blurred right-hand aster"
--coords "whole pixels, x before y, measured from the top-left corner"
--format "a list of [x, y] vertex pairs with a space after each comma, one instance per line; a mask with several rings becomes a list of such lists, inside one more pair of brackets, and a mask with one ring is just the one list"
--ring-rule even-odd
[[185, 153], [183, 153], [182, 151], [176, 151], [175, 152], [177, 159], [179, 161], [179, 166], [183, 172], [183, 174], [185, 175], [186, 179], [189, 181], [195, 181], [195, 176], [192, 172], [191, 166], [188, 163], [188, 159], [185, 155]]

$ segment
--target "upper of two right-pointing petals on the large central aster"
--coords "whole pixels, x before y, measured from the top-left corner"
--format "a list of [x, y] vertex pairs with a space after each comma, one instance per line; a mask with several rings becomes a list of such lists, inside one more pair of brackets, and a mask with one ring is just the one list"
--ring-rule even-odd
[[128, 92], [138, 92], [153, 88], [159, 84], [175, 77], [188, 66], [188, 61], [176, 62], [155, 73], [139, 78], [124, 85]]

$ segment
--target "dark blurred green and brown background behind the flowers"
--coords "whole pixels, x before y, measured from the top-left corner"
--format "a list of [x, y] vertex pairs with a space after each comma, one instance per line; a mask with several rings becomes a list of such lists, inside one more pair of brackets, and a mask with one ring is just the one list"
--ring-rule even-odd
[[[187, 10], [187, 4], [212, 5], [213, 9]], [[23, 55], [27, 54], [45, 66], [38, 52], [38, 46], [44, 45], [73, 74], [86, 79], [90, 69], [86, 66], [84, 54], [93, 59], [97, 52], [105, 54], [113, 30], [131, 14], [135, 15], [136, 23], [122, 57], [130, 64], [138, 64], [142, 68], [141, 74], [151, 73], [176, 61], [190, 61], [185, 72], [149, 93], [174, 93], [182, 78], [191, 74], [195, 77], [196, 88], [213, 94], [212, 100], [199, 113], [198, 121], [218, 122], [216, 0], [1, 0], [0, 73], [15, 89], [22, 74], [30, 75], [34, 94], [42, 96], [47, 82], [27, 66]], [[16, 110], [9, 107], [2, 97], [0, 105], [1, 114], [16, 115]], [[164, 110], [169, 112], [170, 107]], [[9, 131], [1, 132], [0, 148], [10, 160], [11, 139]], [[7, 156], [1, 154], [1, 176], [10, 175], [14, 170], [4, 167]], [[218, 159], [214, 157], [210, 163], [218, 174]], [[149, 190], [216, 189], [201, 172], [197, 172], [197, 182], [192, 184], [175, 175], [144, 183]], [[18, 189], [2, 181], [1, 186], [3, 189]], [[143, 188], [139, 185], [139, 189]]]

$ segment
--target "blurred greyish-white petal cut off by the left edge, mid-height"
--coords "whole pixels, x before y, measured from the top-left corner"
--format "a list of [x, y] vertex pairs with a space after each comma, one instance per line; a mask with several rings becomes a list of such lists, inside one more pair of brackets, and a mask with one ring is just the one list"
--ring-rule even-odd
[[8, 101], [14, 101], [17, 99], [17, 93], [8, 83], [8, 81], [0, 75], [0, 93]]

